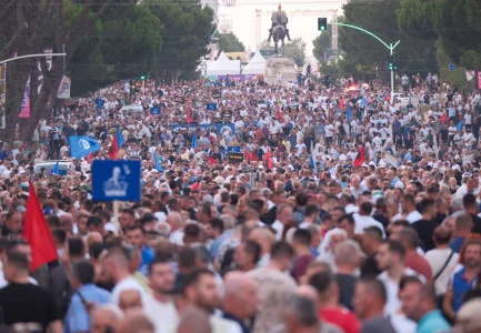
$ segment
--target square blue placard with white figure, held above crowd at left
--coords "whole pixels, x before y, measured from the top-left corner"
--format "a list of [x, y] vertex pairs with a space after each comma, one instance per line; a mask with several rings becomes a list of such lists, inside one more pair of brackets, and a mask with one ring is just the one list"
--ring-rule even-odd
[[93, 161], [94, 201], [140, 201], [140, 161]]

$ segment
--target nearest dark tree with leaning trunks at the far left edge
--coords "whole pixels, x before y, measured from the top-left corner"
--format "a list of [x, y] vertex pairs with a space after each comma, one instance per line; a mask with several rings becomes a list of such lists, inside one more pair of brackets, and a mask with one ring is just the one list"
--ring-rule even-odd
[[[7, 72], [8, 100], [6, 103], [7, 128], [0, 130], [0, 139], [11, 141], [17, 127], [19, 137], [28, 142], [40, 120], [51, 110], [63, 74], [63, 63], [70, 63], [84, 39], [97, 27], [113, 0], [9, 0], [0, 3], [0, 59], [18, 54], [42, 53], [51, 47], [53, 52], [67, 51], [64, 59], [53, 58], [49, 70], [40, 58], [43, 75], [42, 88], [37, 93], [39, 75], [37, 62], [31, 59], [9, 64]], [[128, 0], [123, 0], [124, 2]], [[126, 2], [133, 7], [133, 1]], [[129, 10], [124, 6], [123, 10]], [[31, 117], [19, 119], [19, 108], [29, 75], [31, 80]]]

